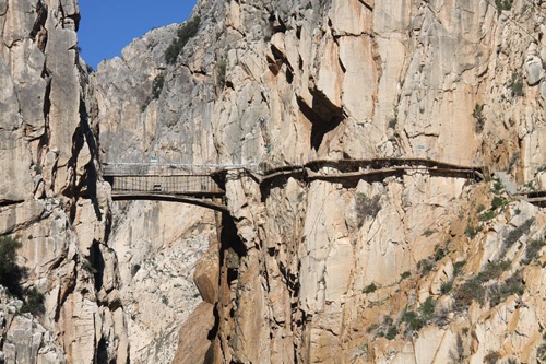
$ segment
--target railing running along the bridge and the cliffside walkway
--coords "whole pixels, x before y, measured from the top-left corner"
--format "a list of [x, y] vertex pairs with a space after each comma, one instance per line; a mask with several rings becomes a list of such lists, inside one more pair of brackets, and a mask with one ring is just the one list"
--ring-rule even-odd
[[[313, 160], [300, 165], [272, 164], [174, 164], [105, 163], [104, 176], [114, 191], [140, 191], [187, 196], [223, 195], [218, 178], [225, 183], [228, 171], [245, 171], [258, 183], [280, 175], [306, 174], [308, 178], [344, 178], [389, 174], [393, 171], [425, 168], [430, 172], [474, 174], [484, 178], [484, 167], [456, 165], [430, 158]], [[333, 169], [333, 171], [331, 171]]]

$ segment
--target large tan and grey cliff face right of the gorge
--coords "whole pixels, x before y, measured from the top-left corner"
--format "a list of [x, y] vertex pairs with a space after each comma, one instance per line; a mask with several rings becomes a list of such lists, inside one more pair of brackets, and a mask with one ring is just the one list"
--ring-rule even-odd
[[[539, 0], [203, 0], [173, 64], [163, 54], [177, 26], [98, 68], [104, 158], [416, 156], [544, 189], [545, 12]], [[233, 177], [229, 216], [195, 272], [205, 302], [182, 326], [176, 362], [544, 360], [544, 210], [494, 183], [423, 171], [262, 186]], [[159, 221], [169, 213], [152, 209]]]

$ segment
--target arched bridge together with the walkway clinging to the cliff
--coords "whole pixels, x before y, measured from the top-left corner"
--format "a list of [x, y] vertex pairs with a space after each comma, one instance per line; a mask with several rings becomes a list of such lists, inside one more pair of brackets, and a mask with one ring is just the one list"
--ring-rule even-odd
[[[313, 160], [300, 164], [159, 164], [104, 163], [103, 175], [111, 185], [114, 200], [163, 200], [192, 203], [226, 211], [225, 183], [230, 172], [242, 173], [261, 187], [275, 180], [355, 181], [381, 179], [420, 171], [432, 176], [482, 180], [484, 166], [430, 158]], [[237, 175], [237, 174], [236, 174]]]

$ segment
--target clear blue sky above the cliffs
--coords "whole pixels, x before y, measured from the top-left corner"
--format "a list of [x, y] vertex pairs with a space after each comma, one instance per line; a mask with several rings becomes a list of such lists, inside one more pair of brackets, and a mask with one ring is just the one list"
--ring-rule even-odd
[[153, 27], [181, 23], [197, 0], [80, 0], [81, 56], [94, 69]]

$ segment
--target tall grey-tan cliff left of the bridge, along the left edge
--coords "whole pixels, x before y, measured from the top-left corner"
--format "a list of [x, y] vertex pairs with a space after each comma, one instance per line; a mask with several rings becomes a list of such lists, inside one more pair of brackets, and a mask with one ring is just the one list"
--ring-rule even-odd
[[31, 318], [17, 314], [21, 301], [2, 293], [7, 363], [128, 360], [79, 20], [76, 1], [0, 2], [0, 235], [22, 244], [22, 290], [45, 296], [45, 313]]

